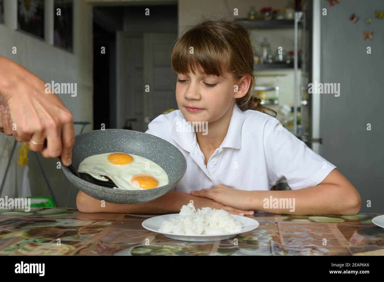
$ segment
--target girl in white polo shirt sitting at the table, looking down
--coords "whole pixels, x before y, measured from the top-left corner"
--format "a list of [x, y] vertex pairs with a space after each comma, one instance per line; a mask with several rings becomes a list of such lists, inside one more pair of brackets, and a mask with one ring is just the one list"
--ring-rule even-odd
[[[187, 159], [184, 177], [173, 191], [137, 205], [109, 203], [101, 208], [99, 200], [79, 191], [80, 211], [178, 213], [193, 200], [196, 208], [223, 208], [239, 215], [254, 210], [359, 212], [361, 199], [354, 186], [253, 96], [252, 46], [240, 23], [208, 20], [190, 28], [177, 40], [171, 63], [179, 110], [159, 115], [147, 133], [179, 148]], [[183, 124], [186, 128], [180, 129]], [[291, 190], [271, 191], [279, 182]]]

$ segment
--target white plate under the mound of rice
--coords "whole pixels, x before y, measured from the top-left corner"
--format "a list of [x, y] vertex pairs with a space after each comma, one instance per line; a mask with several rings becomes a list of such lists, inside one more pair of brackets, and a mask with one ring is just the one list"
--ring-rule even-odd
[[167, 236], [171, 239], [182, 240], [182, 241], [195, 241], [195, 242], [219, 241], [219, 240], [229, 239], [229, 238], [235, 237], [237, 234], [249, 232], [253, 229], [256, 229], [259, 226], [258, 221], [253, 218], [230, 214], [230, 216], [239, 220], [242, 223], [243, 228], [240, 232], [226, 233], [226, 234], [212, 234], [212, 235], [208, 235], [208, 234], [186, 235], [186, 234], [167, 233], [159, 230], [161, 223], [164, 220], [170, 220], [178, 215], [179, 215], [178, 213], [174, 213], [174, 214], [164, 214], [161, 216], [155, 216], [153, 218], [148, 218], [144, 220], [141, 225], [142, 227], [144, 227], [149, 231], [164, 234], [164, 236]]

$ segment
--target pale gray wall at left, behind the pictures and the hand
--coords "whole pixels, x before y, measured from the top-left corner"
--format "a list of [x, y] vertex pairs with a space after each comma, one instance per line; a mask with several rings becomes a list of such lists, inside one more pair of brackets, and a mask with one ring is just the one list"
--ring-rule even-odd
[[[93, 121], [93, 47], [92, 47], [92, 6], [85, 0], [74, 1], [74, 52], [70, 53], [52, 45], [53, 43], [53, 1], [45, 0], [45, 40], [35, 38], [27, 33], [15, 30], [17, 1], [5, 3], [5, 25], [0, 24], [0, 55], [22, 64], [44, 81], [77, 83], [77, 96], [60, 94], [60, 99], [72, 112], [73, 119]], [[52, 13], [50, 13], [50, 11]], [[17, 54], [12, 54], [12, 47], [17, 47]], [[86, 131], [92, 129], [88, 125]], [[75, 133], [79, 134], [81, 127], [75, 125]], [[12, 146], [7, 150], [10, 151]], [[3, 148], [0, 148], [3, 150]], [[63, 172], [56, 168], [57, 159], [45, 159], [38, 153], [48, 179], [54, 190], [58, 206], [63, 207], [67, 202], [69, 181]], [[46, 187], [40, 167], [32, 152], [28, 154], [29, 180], [33, 196], [51, 196]], [[13, 156], [13, 162], [18, 159], [18, 151]], [[7, 158], [8, 160], [8, 158]], [[0, 171], [0, 181], [5, 167]], [[14, 181], [7, 178], [7, 181]], [[17, 185], [15, 183], [15, 185]], [[15, 187], [16, 189], [17, 187]], [[76, 207], [76, 193], [71, 193], [70, 207]], [[3, 195], [5, 196], [5, 195]]]

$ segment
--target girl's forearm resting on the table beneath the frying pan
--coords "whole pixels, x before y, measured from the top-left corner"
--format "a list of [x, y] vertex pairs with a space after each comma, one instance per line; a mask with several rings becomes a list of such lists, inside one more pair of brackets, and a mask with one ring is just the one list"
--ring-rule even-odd
[[83, 213], [138, 213], [138, 214], [167, 214], [179, 213], [182, 205], [187, 204], [189, 193], [168, 192], [165, 195], [143, 204], [113, 204], [105, 203], [79, 191], [76, 205]]

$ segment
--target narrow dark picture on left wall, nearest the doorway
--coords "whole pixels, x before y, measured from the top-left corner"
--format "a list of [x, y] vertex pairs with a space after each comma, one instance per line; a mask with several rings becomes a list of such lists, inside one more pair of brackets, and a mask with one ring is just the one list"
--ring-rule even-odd
[[54, 0], [53, 45], [73, 52], [73, 0]]

